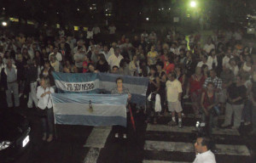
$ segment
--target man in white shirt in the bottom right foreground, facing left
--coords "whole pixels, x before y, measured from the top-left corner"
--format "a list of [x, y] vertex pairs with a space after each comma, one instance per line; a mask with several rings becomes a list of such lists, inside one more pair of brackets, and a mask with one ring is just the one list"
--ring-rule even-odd
[[206, 137], [196, 138], [195, 160], [193, 163], [216, 163], [215, 155], [211, 151], [211, 140]]

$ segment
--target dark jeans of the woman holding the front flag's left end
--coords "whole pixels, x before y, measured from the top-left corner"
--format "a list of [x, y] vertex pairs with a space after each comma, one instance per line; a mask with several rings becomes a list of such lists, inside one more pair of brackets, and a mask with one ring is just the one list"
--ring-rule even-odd
[[41, 118], [42, 126], [43, 126], [43, 132], [48, 134], [53, 134], [54, 132], [54, 114], [53, 109], [45, 109], [46, 116], [43, 116]]

